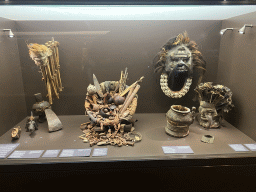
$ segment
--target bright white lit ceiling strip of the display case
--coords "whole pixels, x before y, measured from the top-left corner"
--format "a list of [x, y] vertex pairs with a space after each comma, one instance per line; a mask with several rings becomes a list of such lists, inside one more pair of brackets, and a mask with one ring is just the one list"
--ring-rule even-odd
[[256, 5], [2, 5], [0, 17], [11, 20], [224, 20], [255, 11]]

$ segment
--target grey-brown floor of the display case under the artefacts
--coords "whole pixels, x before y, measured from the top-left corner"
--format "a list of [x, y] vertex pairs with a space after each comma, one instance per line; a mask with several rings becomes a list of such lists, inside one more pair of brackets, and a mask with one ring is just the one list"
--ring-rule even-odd
[[[246, 136], [244, 133], [224, 121], [224, 126], [220, 129], [207, 130], [201, 127], [195, 121], [189, 129], [189, 135], [184, 138], [175, 138], [166, 134], [165, 126], [166, 119], [164, 113], [155, 114], [135, 114], [134, 118], [139, 121], [135, 123], [135, 131], [142, 134], [143, 138], [140, 142], [135, 143], [134, 146], [93, 146], [90, 147], [89, 143], [83, 143], [79, 136], [83, 134], [80, 129], [81, 123], [88, 121], [85, 115], [73, 116], [59, 116], [65, 129], [57, 132], [48, 132], [47, 122], [39, 124], [38, 130], [33, 135], [29, 135], [24, 129], [26, 118], [18, 125], [22, 128], [22, 135], [16, 143], [20, 145], [16, 150], [56, 150], [56, 149], [85, 149], [90, 148], [108, 148], [107, 156], [99, 157], [77, 157], [72, 161], [84, 158], [88, 160], [114, 160], [114, 159], [161, 159], [161, 158], [202, 158], [205, 156], [237, 156], [240, 153], [234, 151], [229, 144], [255, 144], [256, 142]], [[16, 126], [18, 126], [16, 125]], [[0, 137], [0, 144], [11, 142], [11, 129]], [[215, 140], [213, 144], [203, 143], [201, 141], [203, 135], [212, 135]], [[15, 142], [14, 142], [15, 144]], [[164, 154], [162, 146], [190, 146], [194, 154]], [[251, 151], [243, 152], [242, 155], [252, 154]], [[69, 157], [73, 158], [73, 157]], [[54, 162], [68, 161], [69, 158], [55, 157]], [[42, 162], [51, 162], [51, 158], [39, 158]], [[34, 159], [33, 161], [37, 161]], [[14, 161], [12, 161], [14, 162]], [[0, 159], [0, 163], [10, 163], [8, 159]], [[25, 163], [25, 162], [24, 162]]]

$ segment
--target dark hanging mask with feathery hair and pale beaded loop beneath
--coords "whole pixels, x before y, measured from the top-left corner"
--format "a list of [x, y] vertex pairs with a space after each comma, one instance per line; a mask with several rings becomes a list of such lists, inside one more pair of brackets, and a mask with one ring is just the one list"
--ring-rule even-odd
[[[195, 42], [185, 32], [169, 40], [154, 59], [155, 72], [161, 71], [160, 85], [165, 95], [181, 98], [192, 84], [193, 69], [205, 70], [205, 61]], [[199, 81], [201, 78], [199, 78]]]

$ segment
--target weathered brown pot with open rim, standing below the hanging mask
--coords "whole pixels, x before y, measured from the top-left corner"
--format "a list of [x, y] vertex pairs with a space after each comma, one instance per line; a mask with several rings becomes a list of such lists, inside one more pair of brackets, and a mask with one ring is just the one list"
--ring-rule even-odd
[[173, 137], [186, 137], [194, 118], [191, 110], [181, 105], [172, 105], [166, 113], [165, 132]]

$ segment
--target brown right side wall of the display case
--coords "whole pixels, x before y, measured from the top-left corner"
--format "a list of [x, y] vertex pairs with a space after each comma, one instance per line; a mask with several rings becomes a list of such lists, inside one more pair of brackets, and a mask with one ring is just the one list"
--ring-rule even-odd
[[226, 115], [227, 121], [256, 139], [256, 27], [237, 31], [244, 24], [256, 24], [256, 13], [233, 17], [222, 22], [222, 28], [235, 28], [221, 38], [218, 83], [233, 92], [235, 107]]

